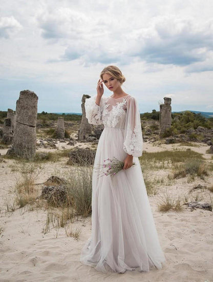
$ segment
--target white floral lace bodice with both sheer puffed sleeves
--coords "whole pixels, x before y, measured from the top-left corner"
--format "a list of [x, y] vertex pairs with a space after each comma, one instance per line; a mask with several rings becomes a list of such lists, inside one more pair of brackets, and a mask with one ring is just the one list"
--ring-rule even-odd
[[95, 100], [96, 96], [92, 96], [85, 102], [89, 123], [124, 130], [124, 151], [134, 157], [141, 156], [143, 140], [136, 99], [130, 95], [118, 99], [102, 96], [100, 106]]

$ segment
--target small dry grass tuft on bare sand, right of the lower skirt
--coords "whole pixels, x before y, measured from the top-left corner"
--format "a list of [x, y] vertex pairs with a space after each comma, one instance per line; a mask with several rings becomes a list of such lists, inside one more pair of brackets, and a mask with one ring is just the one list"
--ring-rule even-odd
[[160, 198], [160, 202], [157, 204], [159, 212], [168, 212], [170, 210], [180, 212], [183, 210], [182, 201], [180, 196], [173, 197], [167, 192]]

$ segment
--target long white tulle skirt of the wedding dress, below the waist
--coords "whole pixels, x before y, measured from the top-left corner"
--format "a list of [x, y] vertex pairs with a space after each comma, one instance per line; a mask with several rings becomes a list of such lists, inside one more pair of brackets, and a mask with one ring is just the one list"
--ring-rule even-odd
[[[107, 158], [125, 159], [123, 136], [123, 129], [103, 129], [94, 168]], [[100, 177], [93, 170], [92, 232], [80, 261], [97, 271], [150, 271], [161, 269], [165, 262], [140, 162], [136, 157], [133, 162], [135, 166], [114, 177]]]

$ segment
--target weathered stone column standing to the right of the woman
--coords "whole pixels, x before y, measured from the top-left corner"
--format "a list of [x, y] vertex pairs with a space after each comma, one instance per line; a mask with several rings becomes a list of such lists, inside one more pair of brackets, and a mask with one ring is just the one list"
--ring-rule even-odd
[[160, 105], [160, 136], [167, 128], [171, 127], [172, 123], [172, 107], [171, 98], [164, 97], [164, 104]]

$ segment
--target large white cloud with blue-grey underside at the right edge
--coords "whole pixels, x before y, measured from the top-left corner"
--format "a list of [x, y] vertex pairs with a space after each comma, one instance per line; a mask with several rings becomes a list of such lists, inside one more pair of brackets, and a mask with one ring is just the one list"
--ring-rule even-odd
[[205, 61], [213, 50], [213, 22], [200, 26], [191, 19], [160, 18], [141, 30], [137, 44], [140, 50], [131, 54], [146, 62], [186, 66]]

